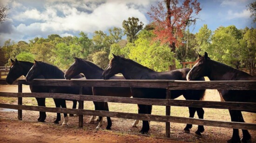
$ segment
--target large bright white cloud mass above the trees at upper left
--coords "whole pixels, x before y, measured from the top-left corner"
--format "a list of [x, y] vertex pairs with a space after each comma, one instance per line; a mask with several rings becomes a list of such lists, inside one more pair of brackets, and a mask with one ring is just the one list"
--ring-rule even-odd
[[[146, 12], [152, 0], [49, 0], [43, 6], [27, 6], [25, 3], [9, 2], [13, 7], [11, 19], [17, 25], [15, 34], [4, 34], [6, 40], [28, 40], [28, 37], [46, 37], [49, 34], [73, 36], [71, 33], [84, 31], [90, 35], [96, 30], [108, 31], [111, 27], [122, 27], [128, 17], [137, 17], [148, 23]], [[3, 34], [0, 31], [0, 37]], [[0, 44], [1, 45], [1, 44]]]

